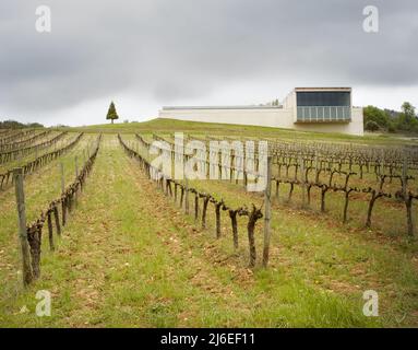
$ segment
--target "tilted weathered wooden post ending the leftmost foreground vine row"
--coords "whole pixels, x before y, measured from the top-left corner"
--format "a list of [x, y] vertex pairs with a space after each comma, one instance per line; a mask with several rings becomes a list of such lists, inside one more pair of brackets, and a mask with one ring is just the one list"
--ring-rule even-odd
[[23, 190], [23, 170], [17, 167], [13, 171], [14, 185], [16, 194], [17, 215], [19, 215], [19, 238], [22, 249], [22, 262], [23, 262], [23, 285], [27, 287], [33, 280], [33, 272], [31, 267], [31, 252], [27, 242], [26, 231], [26, 209], [25, 209], [25, 194]]

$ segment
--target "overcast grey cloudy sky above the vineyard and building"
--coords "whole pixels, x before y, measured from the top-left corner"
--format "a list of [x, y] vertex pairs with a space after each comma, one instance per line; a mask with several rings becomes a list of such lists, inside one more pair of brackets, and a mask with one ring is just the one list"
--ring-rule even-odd
[[[37, 31], [40, 5], [50, 32]], [[363, 28], [368, 5], [377, 33]], [[120, 121], [141, 121], [296, 86], [418, 107], [417, 43], [417, 0], [1, 0], [0, 120], [103, 124], [115, 101]]]

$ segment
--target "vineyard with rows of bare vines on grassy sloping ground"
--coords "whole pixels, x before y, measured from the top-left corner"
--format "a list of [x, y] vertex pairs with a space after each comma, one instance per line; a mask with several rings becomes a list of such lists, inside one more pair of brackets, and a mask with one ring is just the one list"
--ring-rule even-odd
[[415, 142], [159, 127], [0, 130], [1, 325], [418, 325]]

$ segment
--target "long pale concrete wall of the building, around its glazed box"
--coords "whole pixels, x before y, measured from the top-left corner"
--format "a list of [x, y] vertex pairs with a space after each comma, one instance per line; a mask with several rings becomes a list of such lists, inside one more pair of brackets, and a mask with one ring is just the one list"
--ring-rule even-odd
[[[295, 96], [289, 96], [290, 105]], [[203, 108], [203, 109], [162, 109], [160, 118], [253, 125], [263, 127], [276, 127], [296, 129], [301, 131], [341, 132], [363, 136], [362, 108], [351, 108], [351, 122], [319, 122], [295, 124], [295, 108], [266, 107], [266, 108]]]

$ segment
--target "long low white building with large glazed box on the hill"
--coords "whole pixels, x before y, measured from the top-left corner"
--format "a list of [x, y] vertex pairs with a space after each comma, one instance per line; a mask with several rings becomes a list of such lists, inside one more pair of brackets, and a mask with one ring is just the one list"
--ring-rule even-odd
[[160, 118], [363, 135], [351, 88], [296, 88], [279, 106], [163, 107]]

